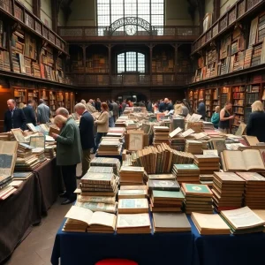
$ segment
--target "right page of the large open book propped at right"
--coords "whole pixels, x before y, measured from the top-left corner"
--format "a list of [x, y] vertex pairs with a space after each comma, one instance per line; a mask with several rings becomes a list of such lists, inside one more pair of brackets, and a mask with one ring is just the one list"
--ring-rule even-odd
[[259, 150], [244, 150], [242, 154], [246, 163], [246, 170], [265, 170]]

